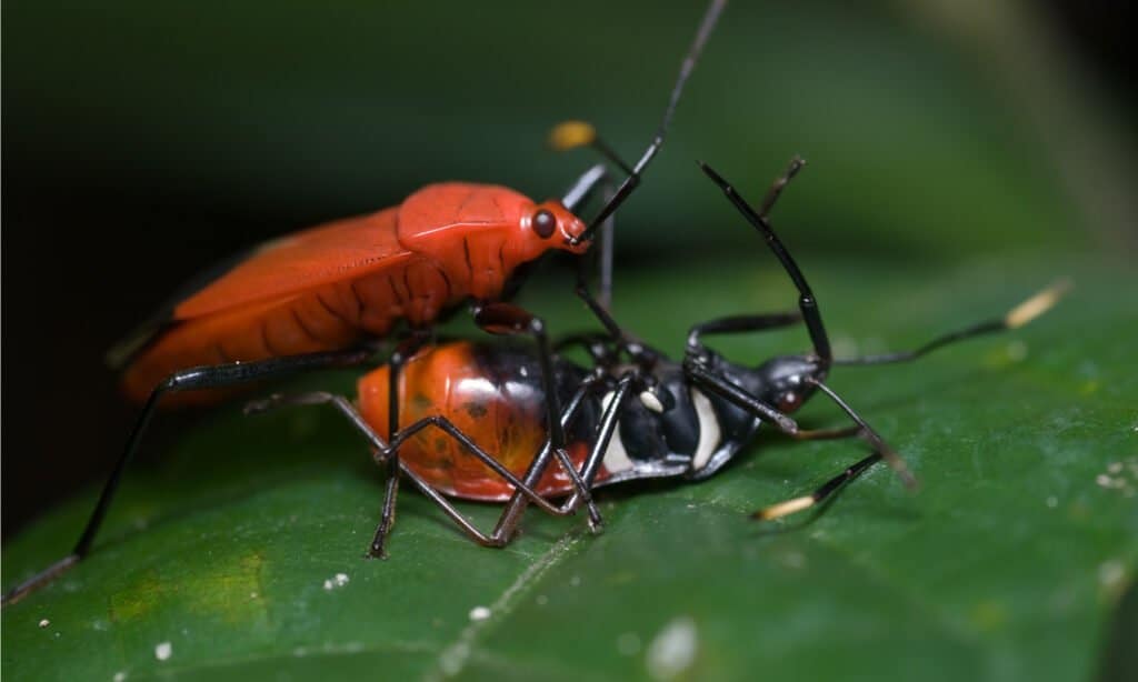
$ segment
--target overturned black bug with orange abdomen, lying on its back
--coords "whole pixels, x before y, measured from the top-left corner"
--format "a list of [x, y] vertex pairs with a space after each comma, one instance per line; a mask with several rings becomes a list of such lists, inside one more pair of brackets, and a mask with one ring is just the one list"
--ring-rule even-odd
[[[760, 509], [753, 516], [761, 519], [811, 507], [882, 459], [913, 485], [915, 479], [900, 457], [824, 383], [830, 368], [905, 361], [950, 342], [1022, 326], [1053, 306], [1064, 285], [1044, 290], [1001, 318], [938, 336], [914, 351], [835, 359], [814, 293], [768, 219], [783, 188], [801, 167], [802, 161], [794, 159], [757, 211], [715, 170], [702, 166], [778, 258], [799, 291], [799, 309], [696, 324], [688, 333], [682, 363], [632, 340], [580, 289], [578, 293], [608, 328], [607, 335], [570, 341], [586, 346], [593, 368], [553, 355], [539, 319], [498, 303], [485, 310], [487, 328], [529, 333], [536, 348], [460, 342], [410, 355], [415, 349], [409, 346], [405, 354], [396, 354], [397, 361], [360, 380], [357, 405], [316, 392], [274, 396], [249, 404], [247, 410], [332, 405], [371, 443], [378, 461], [395, 463], [399, 474], [437, 502], [463, 532], [489, 547], [511, 540], [529, 504], [537, 501], [546, 512], [568, 514], [583, 501], [569, 476], [549, 468], [552, 452], [560, 449], [568, 450], [592, 489], [636, 479], [707, 479], [737, 455], [762, 423], [799, 440], [859, 436], [872, 447], [873, 454], [813, 493]], [[809, 332], [813, 351], [776, 357], [758, 367], [732, 363], [702, 340], [708, 334], [758, 332], [800, 322]], [[632, 361], [622, 361], [621, 356]], [[818, 391], [853, 424], [800, 429], [790, 414]], [[485, 533], [446, 497], [508, 505], [497, 525]], [[568, 499], [553, 506], [546, 497]], [[395, 488], [390, 482], [384, 510], [373, 549], [382, 548], [391, 527]]]

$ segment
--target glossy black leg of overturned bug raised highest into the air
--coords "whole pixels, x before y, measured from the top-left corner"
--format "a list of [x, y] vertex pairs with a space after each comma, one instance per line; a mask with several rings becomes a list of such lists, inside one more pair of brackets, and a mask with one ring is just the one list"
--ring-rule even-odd
[[810, 285], [806, 282], [806, 276], [802, 275], [802, 271], [799, 269], [798, 264], [791, 257], [790, 251], [783, 246], [782, 240], [775, 234], [774, 228], [770, 226], [770, 222], [767, 218], [767, 211], [774, 206], [775, 201], [782, 194], [782, 189], [786, 183], [794, 177], [794, 175], [802, 168], [803, 161], [795, 158], [791, 161], [790, 167], [786, 169], [785, 175], [775, 181], [774, 186], [767, 193], [767, 198], [762, 203], [762, 213], [757, 213], [751, 206], [744, 200], [739, 192], [733, 188], [726, 180], [724, 180], [718, 173], [711, 169], [707, 164], [700, 164], [703, 168], [703, 173], [711, 178], [719, 189], [723, 190], [724, 194], [732, 205], [743, 215], [747, 221], [759, 231], [759, 234], [764, 236], [767, 246], [774, 252], [778, 261], [782, 263], [783, 269], [790, 275], [794, 286], [798, 289], [798, 307], [802, 311], [802, 319], [806, 322], [806, 328], [810, 333], [810, 340], [814, 342], [814, 352], [818, 357], [822, 374], [825, 375], [826, 369], [833, 361], [833, 354], [830, 348], [830, 338], [826, 335], [826, 327], [822, 323], [822, 313], [818, 310], [818, 301], [814, 298], [814, 292], [810, 291]]

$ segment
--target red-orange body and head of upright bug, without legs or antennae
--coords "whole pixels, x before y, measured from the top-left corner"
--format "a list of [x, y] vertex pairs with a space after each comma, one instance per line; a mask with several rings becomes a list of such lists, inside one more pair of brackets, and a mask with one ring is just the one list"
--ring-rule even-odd
[[494, 300], [522, 263], [585, 248], [569, 246], [584, 224], [555, 201], [539, 208], [559, 231], [535, 234], [537, 208], [506, 188], [445, 183], [265, 244], [174, 307], [123, 388], [141, 401], [178, 369], [347, 348], [398, 319], [422, 326], [468, 298]]

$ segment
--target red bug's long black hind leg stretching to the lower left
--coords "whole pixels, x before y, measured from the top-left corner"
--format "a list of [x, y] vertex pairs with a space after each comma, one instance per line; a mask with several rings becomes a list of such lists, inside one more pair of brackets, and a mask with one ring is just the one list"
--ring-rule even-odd
[[123, 472], [126, 471], [127, 465], [133, 459], [134, 452], [138, 450], [139, 443], [142, 440], [142, 435], [146, 433], [147, 426], [150, 424], [150, 419], [154, 416], [154, 410], [157, 408], [163, 396], [166, 393], [182, 391], [236, 386], [310, 369], [351, 367], [368, 361], [373, 355], [374, 350], [371, 348], [316, 352], [310, 355], [271, 358], [253, 363], [233, 363], [228, 365], [191, 367], [170, 375], [164, 382], [158, 384], [154, 391], [151, 391], [146, 405], [143, 405], [142, 411], [134, 422], [134, 427], [131, 431], [130, 438], [126, 440], [126, 446], [118, 456], [118, 460], [115, 461], [115, 466], [112, 469], [110, 475], [107, 477], [107, 482], [102, 486], [102, 492], [99, 494], [99, 501], [91, 512], [91, 516], [88, 518], [86, 525], [80, 534], [79, 541], [75, 543], [75, 548], [72, 550], [72, 554], [53, 564], [51, 567], [32, 576], [24, 583], [17, 585], [10, 592], [5, 594], [2, 604], [14, 604], [19, 599], [23, 599], [28, 592], [47, 584], [90, 552], [91, 544], [94, 542], [99, 527], [102, 525], [102, 519], [106, 516], [107, 510], [110, 508], [115, 492], [118, 490], [118, 483], [122, 480]]

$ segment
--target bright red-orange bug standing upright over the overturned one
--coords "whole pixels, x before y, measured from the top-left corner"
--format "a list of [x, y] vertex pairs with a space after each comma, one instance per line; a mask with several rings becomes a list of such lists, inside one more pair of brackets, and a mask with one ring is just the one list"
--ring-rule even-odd
[[[165, 397], [208, 401], [217, 389], [299, 371], [358, 365], [372, 341], [399, 322], [414, 328], [473, 301], [477, 310], [511, 292], [512, 275], [550, 250], [582, 253], [595, 231], [638, 186], [663, 144], [687, 77], [726, 0], [711, 0], [682, 63], [660, 127], [634, 167], [587, 225], [575, 211], [607, 176], [584, 173], [561, 200], [535, 203], [498, 185], [429, 185], [397, 207], [337, 221], [265, 244], [207, 273], [108, 354], [123, 389], [142, 410], [72, 554], [3, 598], [10, 604], [88, 555], [118, 481]], [[591, 143], [570, 124], [561, 147]], [[602, 256], [602, 264], [611, 258]], [[603, 280], [610, 281], [605, 274]], [[187, 396], [187, 392], [197, 392]], [[165, 402], [170, 402], [166, 400]], [[563, 452], [555, 454], [575, 477]], [[591, 517], [600, 515], [575, 481]]]

